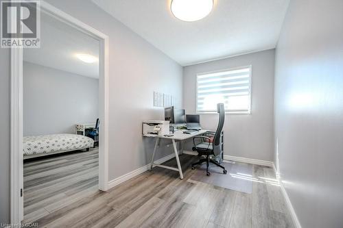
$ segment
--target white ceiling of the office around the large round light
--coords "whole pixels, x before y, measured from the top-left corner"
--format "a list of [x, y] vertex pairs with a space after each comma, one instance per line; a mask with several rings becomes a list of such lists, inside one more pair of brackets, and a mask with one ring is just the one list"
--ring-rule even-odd
[[171, 14], [171, 0], [93, 0], [182, 66], [276, 47], [289, 0], [214, 0], [196, 22]]

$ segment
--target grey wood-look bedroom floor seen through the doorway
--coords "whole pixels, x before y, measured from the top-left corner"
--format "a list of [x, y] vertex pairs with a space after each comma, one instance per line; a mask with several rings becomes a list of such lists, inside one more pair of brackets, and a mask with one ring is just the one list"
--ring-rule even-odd
[[99, 149], [24, 162], [24, 220], [56, 212], [98, 191]]

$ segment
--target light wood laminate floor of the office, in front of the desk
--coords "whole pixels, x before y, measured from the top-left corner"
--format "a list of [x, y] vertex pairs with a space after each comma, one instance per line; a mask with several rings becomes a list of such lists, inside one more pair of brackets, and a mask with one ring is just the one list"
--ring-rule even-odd
[[[272, 168], [252, 165], [252, 175], [227, 174], [252, 181], [252, 194], [247, 194], [191, 180], [196, 170], [190, 164], [197, 159], [180, 156], [185, 179], [155, 167], [108, 192], [89, 192], [32, 222], [39, 227], [294, 227]], [[87, 166], [86, 175], [94, 167], [90, 161], [82, 162], [78, 167]], [[176, 166], [175, 159], [165, 164]], [[82, 181], [82, 175], [78, 177]], [[69, 194], [78, 194], [87, 185], [90, 180]], [[51, 194], [54, 201], [65, 197], [57, 196]]]

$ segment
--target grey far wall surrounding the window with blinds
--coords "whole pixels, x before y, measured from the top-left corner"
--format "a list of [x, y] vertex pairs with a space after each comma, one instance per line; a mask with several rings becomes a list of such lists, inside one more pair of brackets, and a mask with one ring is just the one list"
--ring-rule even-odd
[[[183, 103], [187, 113], [196, 112], [196, 74], [252, 65], [251, 114], [226, 114], [224, 154], [273, 160], [274, 49], [239, 55], [184, 68]], [[202, 114], [203, 128], [216, 129], [217, 114]], [[187, 144], [191, 149], [191, 143]]]

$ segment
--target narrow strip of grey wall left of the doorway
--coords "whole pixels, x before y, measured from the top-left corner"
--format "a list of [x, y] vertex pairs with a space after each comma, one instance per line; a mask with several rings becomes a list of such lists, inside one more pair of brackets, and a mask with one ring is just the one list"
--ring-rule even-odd
[[10, 50], [0, 48], [0, 223], [10, 222]]

